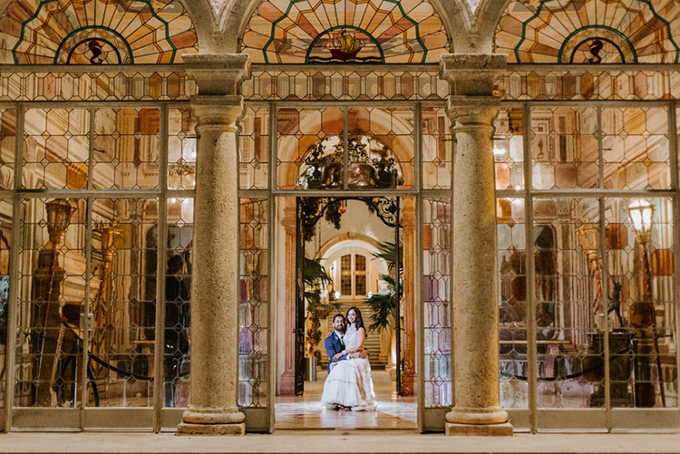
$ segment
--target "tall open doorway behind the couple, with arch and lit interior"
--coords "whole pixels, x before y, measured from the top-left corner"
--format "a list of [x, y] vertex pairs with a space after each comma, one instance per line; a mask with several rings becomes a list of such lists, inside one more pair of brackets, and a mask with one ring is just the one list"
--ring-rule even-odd
[[[403, 208], [413, 205], [396, 197], [277, 198], [278, 235], [286, 237], [277, 241], [277, 264], [287, 273], [277, 278], [276, 430], [416, 430], [413, 269], [403, 257], [404, 223], [414, 222]], [[350, 307], [364, 320], [377, 411], [321, 403], [332, 361], [325, 338], [335, 333], [335, 314]]]

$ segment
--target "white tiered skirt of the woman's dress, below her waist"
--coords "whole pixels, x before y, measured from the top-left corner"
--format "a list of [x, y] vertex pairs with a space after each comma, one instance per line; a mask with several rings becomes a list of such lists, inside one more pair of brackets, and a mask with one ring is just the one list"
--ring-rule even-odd
[[371, 366], [365, 358], [338, 362], [325, 379], [323, 405], [343, 405], [352, 411], [375, 411]]

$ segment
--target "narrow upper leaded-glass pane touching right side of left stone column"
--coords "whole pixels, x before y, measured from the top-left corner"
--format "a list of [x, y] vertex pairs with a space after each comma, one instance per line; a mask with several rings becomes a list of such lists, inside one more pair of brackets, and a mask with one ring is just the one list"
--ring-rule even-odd
[[269, 187], [269, 110], [247, 108], [239, 127], [239, 188], [266, 189]]

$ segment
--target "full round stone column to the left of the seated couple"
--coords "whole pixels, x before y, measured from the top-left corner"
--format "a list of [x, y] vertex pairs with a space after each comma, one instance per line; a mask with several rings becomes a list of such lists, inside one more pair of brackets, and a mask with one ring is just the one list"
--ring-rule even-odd
[[191, 282], [191, 401], [178, 435], [242, 435], [238, 411], [238, 82], [247, 55], [185, 55], [199, 94], [194, 267]]

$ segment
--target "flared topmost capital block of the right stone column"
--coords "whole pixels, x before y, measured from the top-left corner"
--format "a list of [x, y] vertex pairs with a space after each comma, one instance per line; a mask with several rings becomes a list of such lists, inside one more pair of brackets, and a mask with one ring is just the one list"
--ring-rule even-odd
[[496, 53], [444, 53], [439, 63], [442, 79], [458, 96], [491, 96], [493, 82], [504, 71], [508, 55]]

